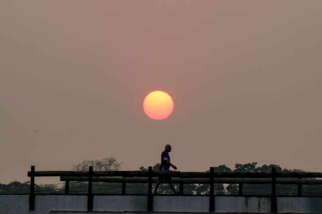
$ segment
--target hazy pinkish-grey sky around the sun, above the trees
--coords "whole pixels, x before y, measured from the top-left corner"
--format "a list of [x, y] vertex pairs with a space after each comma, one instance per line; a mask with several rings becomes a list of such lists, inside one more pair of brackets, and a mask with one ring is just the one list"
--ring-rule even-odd
[[[322, 171], [322, 1], [1, 1], [0, 182], [123, 170]], [[174, 99], [153, 121], [152, 90]]]

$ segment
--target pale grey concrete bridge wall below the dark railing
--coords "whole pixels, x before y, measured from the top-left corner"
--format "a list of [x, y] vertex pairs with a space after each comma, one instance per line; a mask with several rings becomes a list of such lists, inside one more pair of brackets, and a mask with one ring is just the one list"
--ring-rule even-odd
[[[1, 214], [65, 214], [88, 213], [87, 196], [37, 195], [35, 210], [29, 211], [28, 195], [0, 195]], [[278, 197], [279, 213], [322, 214], [322, 198]], [[154, 196], [154, 212], [208, 212], [207, 196]], [[269, 213], [270, 197], [215, 197], [215, 213]], [[97, 212], [146, 212], [147, 196], [99, 195], [94, 196], [93, 211]], [[96, 212], [96, 213], [97, 213]]]

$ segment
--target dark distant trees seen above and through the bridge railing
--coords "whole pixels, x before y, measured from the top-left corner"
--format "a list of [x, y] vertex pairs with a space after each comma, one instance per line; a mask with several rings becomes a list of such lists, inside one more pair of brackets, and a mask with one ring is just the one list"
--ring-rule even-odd
[[[99, 160], [84, 160], [73, 166], [75, 171], [87, 171], [89, 166], [93, 166], [95, 171], [116, 171], [121, 169], [121, 162], [118, 162], [115, 157], [105, 157]], [[160, 164], [153, 166], [153, 170], [158, 170]], [[257, 162], [246, 164], [235, 164], [233, 169], [226, 165], [214, 167], [215, 172], [271, 172], [272, 168], [276, 167], [277, 172], [304, 172], [301, 169], [283, 169], [279, 165], [262, 165], [257, 166]], [[142, 171], [148, 169], [141, 166]], [[303, 178], [304, 179], [304, 178]], [[307, 179], [307, 178], [306, 178]], [[314, 179], [314, 178], [309, 178]], [[220, 184], [216, 183], [215, 194], [238, 194], [237, 184]], [[70, 182], [70, 193], [87, 193], [87, 182], [75, 181]], [[178, 185], [177, 185], [177, 188]], [[209, 194], [209, 184], [184, 184], [184, 194]], [[63, 193], [65, 185], [49, 184], [35, 185], [35, 193]], [[148, 186], [145, 183], [128, 183], [126, 184], [126, 193], [147, 193]], [[159, 188], [160, 193], [171, 193], [168, 184], [162, 184]], [[0, 184], [0, 194], [17, 194], [29, 193], [29, 181], [18, 182], [13, 181], [9, 184]], [[94, 182], [93, 193], [121, 193], [120, 183], [104, 183]], [[270, 194], [271, 184], [243, 184], [243, 194]], [[303, 195], [322, 195], [322, 185], [302, 185]], [[297, 185], [295, 184], [278, 184], [277, 194], [296, 195]]]

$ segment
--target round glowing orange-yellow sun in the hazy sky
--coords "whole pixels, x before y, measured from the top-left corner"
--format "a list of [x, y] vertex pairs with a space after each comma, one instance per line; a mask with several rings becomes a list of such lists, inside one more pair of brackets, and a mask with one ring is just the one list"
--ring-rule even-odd
[[173, 99], [164, 91], [152, 91], [143, 101], [143, 110], [145, 114], [153, 120], [164, 120], [169, 117], [173, 111]]

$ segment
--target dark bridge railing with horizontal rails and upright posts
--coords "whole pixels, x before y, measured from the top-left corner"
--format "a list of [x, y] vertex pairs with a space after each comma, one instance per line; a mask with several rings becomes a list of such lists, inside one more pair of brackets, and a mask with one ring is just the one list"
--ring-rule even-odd
[[[121, 194], [126, 192], [126, 183], [147, 183], [148, 184], [148, 211], [153, 210], [152, 184], [158, 181], [158, 177], [171, 176], [173, 183], [180, 186], [180, 193], [183, 194], [183, 184], [209, 184], [209, 211], [215, 211], [214, 184], [238, 184], [238, 195], [243, 195], [243, 184], [271, 184], [271, 211], [277, 212], [276, 185], [296, 184], [298, 192], [296, 196], [302, 195], [302, 185], [321, 185], [322, 180], [307, 180], [302, 178], [322, 178], [320, 172], [214, 172], [210, 167], [209, 172], [179, 172], [179, 171], [93, 171], [90, 166], [88, 171], [35, 171], [31, 166], [28, 171], [30, 177], [29, 209], [35, 208], [35, 177], [60, 177], [65, 181], [65, 194], [69, 194], [71, 181], [87, 181], [87, 207], [93, 209], [93, 182], [121, 183]], [[291, 195], [292, 196], [292, 195]]]

